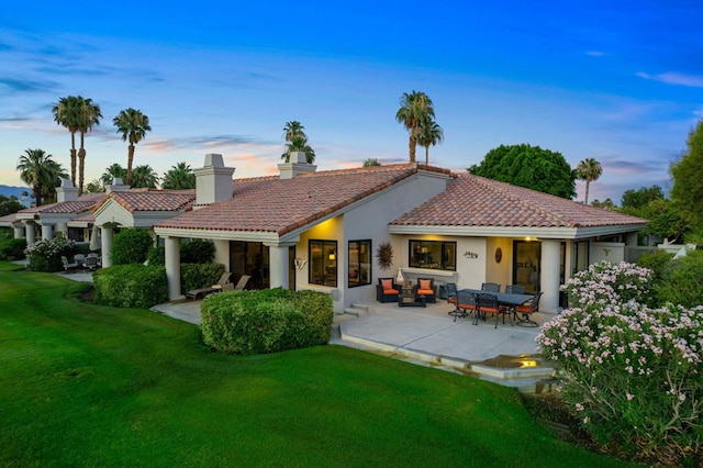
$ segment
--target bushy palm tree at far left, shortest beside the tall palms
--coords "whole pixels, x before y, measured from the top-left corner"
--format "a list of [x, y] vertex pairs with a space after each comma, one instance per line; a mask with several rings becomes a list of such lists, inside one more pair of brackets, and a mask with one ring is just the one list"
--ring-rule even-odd
[[53, 192], [60, 185], [60, 179], [68, 177], [60, 164], [52, 157], [44, 149], [25, 149], [16, 166], [20, 179], [32, 187], [32, 196], [37, 207], [45, 198], [53, 198]]

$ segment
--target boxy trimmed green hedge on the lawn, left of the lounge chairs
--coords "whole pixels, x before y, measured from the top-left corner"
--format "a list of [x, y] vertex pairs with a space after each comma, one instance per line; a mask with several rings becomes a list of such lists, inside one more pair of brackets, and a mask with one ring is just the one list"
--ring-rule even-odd
[[154, 265], [115, 265], [92, 276], [96, 303], [116, 308], [150, 308], [168, 300], [166, 268]]

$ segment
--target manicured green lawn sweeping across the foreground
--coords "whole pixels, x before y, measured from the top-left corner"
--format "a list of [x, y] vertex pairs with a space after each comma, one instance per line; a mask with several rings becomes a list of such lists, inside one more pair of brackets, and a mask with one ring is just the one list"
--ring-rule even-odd
[[199, 328], [81, 303], [0, 264], [0, 466], [625, 466], [511, 389], [343, 346], [211, 353]]

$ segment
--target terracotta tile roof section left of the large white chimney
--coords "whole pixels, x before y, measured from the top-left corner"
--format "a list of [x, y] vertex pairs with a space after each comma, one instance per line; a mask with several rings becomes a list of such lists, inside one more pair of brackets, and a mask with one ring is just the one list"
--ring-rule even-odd
[[188, 211], [196, 200], [196, 190], [133, 189], [112, 192], [93, 209], [93, 212], [108, 200], [114, 200], [131, 213], [135, 211]]

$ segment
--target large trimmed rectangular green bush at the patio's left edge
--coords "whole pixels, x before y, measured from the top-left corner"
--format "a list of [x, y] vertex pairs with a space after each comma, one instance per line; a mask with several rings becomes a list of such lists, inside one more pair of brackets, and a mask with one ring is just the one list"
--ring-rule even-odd
[[330, 341], [332, 298], [281, 288], [222, 292], [201, 307], [204, 343], [226, 354], [265, 354]]

